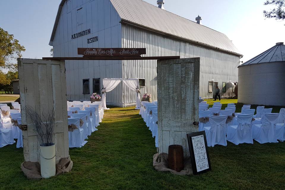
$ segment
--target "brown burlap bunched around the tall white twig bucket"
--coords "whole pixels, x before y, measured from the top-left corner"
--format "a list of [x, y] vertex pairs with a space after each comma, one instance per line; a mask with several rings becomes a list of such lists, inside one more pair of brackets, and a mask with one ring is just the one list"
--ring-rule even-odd
[[[70, 156], [67, 158], [61, 158], [56, 163], [56, 175], [70, 172], [72, 169], [73, 162], [70, 160]], [[41, 176], [41, 166], [39, 162], [23, 162], [21, 164], [21, 170], [27, 176], [28, 179], [40, 179]]]

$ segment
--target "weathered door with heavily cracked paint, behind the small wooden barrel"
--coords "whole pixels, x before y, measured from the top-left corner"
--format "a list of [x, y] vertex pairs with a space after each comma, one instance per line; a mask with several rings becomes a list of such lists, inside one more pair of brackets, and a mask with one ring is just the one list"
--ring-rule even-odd
[[186, 134], [197, 132], [200, 58], [157, 61], [159, 153], [182, 145], [189, 156]]

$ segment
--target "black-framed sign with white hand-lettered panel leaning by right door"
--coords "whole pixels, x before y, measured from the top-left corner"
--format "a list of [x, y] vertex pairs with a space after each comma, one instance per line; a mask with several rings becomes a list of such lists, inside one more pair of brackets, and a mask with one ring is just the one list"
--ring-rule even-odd
[[193, 174], [197, 175], [211, 170], [205, 131], [187, 134]]

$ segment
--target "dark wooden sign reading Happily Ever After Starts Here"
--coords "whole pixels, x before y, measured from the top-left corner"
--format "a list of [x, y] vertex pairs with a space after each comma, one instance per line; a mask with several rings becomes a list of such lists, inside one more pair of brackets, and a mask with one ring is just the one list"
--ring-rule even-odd
[[140, 57], [145, 48], [77, 48], [83, 57]]

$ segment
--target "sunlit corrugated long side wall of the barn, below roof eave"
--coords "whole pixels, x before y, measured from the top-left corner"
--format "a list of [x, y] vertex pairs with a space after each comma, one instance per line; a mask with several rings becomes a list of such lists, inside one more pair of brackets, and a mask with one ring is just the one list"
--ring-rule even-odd
[[[148, 31], [122, 25], [122, 47], [145, 47], [146, 56], [177, 56], [181, 58], [200, 57], [200, 96], [213, 98], [208, 92], [208, 81], [214, 79], [222, 86], [222, 82], [237, 82], [239, 57], [210, 48], [194, 45], [176, 39], [163, 37]], [[141, 92], [148, 92], [157, 99], [156, 60], [122, 61], [123, 78], [145, 78], [146, 87]], [[235, 96], [232, 89], [221, 93], [221, 97]], [[135, 93], [123, 85], [123, 102], [134, 103]]]

